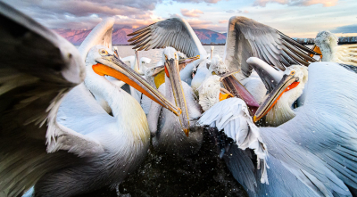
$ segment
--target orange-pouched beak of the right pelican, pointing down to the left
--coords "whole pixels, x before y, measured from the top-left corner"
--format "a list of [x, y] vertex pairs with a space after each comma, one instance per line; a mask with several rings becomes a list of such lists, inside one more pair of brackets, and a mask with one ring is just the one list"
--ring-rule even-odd
[[299, 78], [292, 75], [284, 75], [277, 86], [271, 91], [268, 97], [262, 102], [261, 106], [255, 112], [253, 121], [256, 122], [262, 119], [274, 105], [278, 102], [279, 98], [286, 92], [299, 85]]

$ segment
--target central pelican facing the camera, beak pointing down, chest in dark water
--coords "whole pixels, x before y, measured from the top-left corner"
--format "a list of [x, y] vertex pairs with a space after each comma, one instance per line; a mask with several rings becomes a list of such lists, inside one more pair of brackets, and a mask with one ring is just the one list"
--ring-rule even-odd
[[170, 111], [152, 103], [147, 120], [154, 149], [175, 156], [193, 154], [203, 143], [203, 128], [197, 127], [193, 120], [201, 116], [201, 108], [195, 101], [192, 88], [179, 78], [179, 57], [176, 50], [172, 47], [165, 48], [162, 62], [165, 62], [165, 83], [159, 87], [159, 91], [170, 102], [175, 102], [182, 113], [178, 119]]

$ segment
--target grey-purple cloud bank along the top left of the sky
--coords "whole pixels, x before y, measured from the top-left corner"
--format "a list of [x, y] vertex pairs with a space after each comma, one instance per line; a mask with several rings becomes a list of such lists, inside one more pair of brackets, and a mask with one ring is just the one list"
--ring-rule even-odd
[[106, 17], [131, 27], [160, 20], [154, 16], [162, 0], [3, 0], [50, 29], [92, 29]]

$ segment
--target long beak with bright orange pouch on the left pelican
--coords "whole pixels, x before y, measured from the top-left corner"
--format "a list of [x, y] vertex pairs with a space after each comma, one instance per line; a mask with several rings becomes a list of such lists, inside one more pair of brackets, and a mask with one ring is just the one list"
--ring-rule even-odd
[[96, 74], [104, 76], [108, 75], [113, 78], [117, 78], [129, 86], [136, 88], [141, 93], [152, 99], [154, 102], [159, 103], [162, 107], [172, 111], [177, 116], [181, 113], [181, 110], [173, 103], [170, 103], [165, 97], [153, 86], [142, 78], [136, 71], [130, 69], [124, 62], [121, 62], [115, 55], [107, 55], [95, 60], [97, 64], [92, 68]]

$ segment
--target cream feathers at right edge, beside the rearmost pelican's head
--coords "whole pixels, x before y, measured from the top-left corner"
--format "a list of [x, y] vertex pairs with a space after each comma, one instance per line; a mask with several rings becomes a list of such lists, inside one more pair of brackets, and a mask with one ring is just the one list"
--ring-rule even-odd
[[357, 66], [357, 44], [336, 46], [335, 62]]

